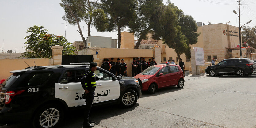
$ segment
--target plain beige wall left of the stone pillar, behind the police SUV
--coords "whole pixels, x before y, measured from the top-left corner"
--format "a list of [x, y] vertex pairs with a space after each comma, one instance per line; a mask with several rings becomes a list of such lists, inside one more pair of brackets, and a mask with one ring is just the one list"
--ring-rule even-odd
[[10, 71], [13, 70], [20, 70], [25, 69], [29, 66], [35, 66], [34, 62], [36, 63], [36, 66], [48, 66], [49, 59], [48, 58], [42, 58], [42, 59], [1, 59], [0, 60], [0, 80], [8, 78], [11, 73]]

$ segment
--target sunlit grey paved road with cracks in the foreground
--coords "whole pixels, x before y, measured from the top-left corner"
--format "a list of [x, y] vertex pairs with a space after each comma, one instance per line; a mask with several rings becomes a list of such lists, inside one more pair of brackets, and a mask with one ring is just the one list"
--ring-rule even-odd
[[[94, 107], [99, 127], [256, 127], [256, 75], [185, 77], [182, 89], [168, 87], [153, 95], [143, 92], [135, 107]], [[71, 111], [63, 128], [80, 128], [83, 110]], [[27, 127], [16, 124], [1, 127]]]

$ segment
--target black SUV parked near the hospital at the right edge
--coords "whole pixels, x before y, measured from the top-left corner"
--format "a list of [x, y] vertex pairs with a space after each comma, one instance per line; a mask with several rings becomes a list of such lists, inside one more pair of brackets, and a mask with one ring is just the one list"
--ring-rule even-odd
[[224, 59], [216, 65], [208, 66], [205, 73], [210, 76], [237, 74], [239, 77], [256, 72], [256, 64], [247, 58]]

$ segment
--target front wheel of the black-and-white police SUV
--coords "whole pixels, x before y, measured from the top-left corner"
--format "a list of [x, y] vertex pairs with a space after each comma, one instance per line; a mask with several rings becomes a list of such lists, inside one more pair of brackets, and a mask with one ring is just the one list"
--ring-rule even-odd
[[132, 89], [128, 89], [122, 96], [121, 105], [126, 108], [132, 107], [137, 103], [137, 100], [137, 93]]

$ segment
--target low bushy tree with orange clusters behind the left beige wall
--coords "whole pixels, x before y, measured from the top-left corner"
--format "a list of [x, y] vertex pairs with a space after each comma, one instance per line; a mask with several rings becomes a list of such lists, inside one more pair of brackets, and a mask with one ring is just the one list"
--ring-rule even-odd
[[48, 30], [42, 29], [43, 26], [32, 26], [27, 29], [27, 33], [30, 35], [26, 36], [25, 42], [26, 51], [21, 57], [27, 58], [50, 58], [52, 56], [51, 47], [54, 45], [63, 46], [62, 55], [75, 55], [75, 48], [72, 43], [68, 42], [63, 36], [56, 36], [47, 33]]

